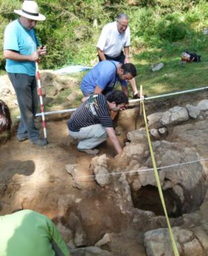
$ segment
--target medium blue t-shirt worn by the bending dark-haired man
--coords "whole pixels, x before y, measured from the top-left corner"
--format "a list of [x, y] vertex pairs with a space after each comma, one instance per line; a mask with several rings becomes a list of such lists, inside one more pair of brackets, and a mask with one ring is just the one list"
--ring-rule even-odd
[[83, 94], [85, 96], [93, 94], [96, 86], [102, 90], [111, 90], [117, 80], [122, 86], [127, 86], [127, 82], [119, 79], [117, 75], [116, 66], [118, 64], [118, 61], [110, 60], [103, 60], [96, 64], [82, 79], [81, 91]]

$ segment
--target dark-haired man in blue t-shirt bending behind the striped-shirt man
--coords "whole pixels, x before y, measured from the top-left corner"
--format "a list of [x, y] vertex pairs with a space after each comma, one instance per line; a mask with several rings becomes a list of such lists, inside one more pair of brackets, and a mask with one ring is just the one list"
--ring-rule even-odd
[[82, 79], [81, 91], [86, 100], [92, 94], [108, 95], [117, 81], [120, 81], [123, 92], [129, 97], [127, 81], [137, 75], [137, 69], [132, 63], [122, 64], [118, 61], [104, 60], [96, 64]]

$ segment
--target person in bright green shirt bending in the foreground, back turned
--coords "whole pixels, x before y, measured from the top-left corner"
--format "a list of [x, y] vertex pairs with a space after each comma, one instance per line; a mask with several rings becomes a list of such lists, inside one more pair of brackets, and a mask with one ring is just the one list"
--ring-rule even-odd
[[0, 216], [1, 256], [69, 256], [54, 223], [32, 210]]

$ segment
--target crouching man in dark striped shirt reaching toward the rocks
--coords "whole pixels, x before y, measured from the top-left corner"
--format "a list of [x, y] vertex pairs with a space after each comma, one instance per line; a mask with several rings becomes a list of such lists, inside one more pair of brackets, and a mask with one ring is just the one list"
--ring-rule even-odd
[[113, 91], [107, 98], [102, 94], [91, 95], [82, 103], [67, 121], [69, 134], [78, 139], [77, 149], [90, 155], [99, 152], [97, 145], [110, 138], [117, 153], [122, 146], [115, 134], [110, 111], [123, 110], [128, 105], [128, 98], [122, 91]]

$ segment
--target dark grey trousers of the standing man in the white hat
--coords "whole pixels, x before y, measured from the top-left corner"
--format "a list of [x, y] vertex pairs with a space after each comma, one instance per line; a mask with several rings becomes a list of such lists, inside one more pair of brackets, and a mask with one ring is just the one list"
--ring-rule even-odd
[[8, 76], [15, 89], [21, 113], [17, 137], [21, 139], [28, 136], [34, 142], [40, 137], [34, 122], [38, 108], [36, 77], [18, 73], [8, 73]]

